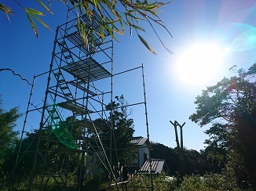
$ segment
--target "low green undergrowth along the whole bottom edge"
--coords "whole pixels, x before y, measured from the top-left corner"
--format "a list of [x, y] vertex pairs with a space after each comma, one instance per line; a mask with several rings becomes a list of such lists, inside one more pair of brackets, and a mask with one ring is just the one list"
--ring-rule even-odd
[[[101, 186], [99, 182], [99, 176], [101, 176]], [[74, 175], [71, 173], [68, 174], [69, 182], [75, 182]], [[128, 183], [119, 184], [119, 189], [112, 182], [111, 190], [151, 190], [151, 178], [147, 175], [133, 175], [130, 177]], [[21, 178], [19, 182], [14, 182], [12, 190], [27, 190], [29, 185], [29, 178]], [[174, 178], [172, 181], [166, 181], [165, 175], [153, 176], [153, 185], [154, 190], [176, 190], [176, 191], [215, 191], [215, 190], [250, 190], [242, 189], [237, 186], [236, 181], [233, 178], [230, 178], [227, 175], [220, 174], [209, 174], [204, 177], [199, 177], [198, 175], [186, 175], [183, 179], [183, 182], [180, 186], [177, 186], [177, 179]], [[39, 190], [40, 188], [40, 177], [35, 177], [32, 190]], [[102, 175], [93, 175], [86, 177], [85, 182], [83, 183], [82, 190], [92, 190], [97, 191], [100, 188], [108, 189], [108, 181]], [[53, 178], [49, 178], [47, 187], [44, 190], [60, 190], [62, 187], [57, 185]], [[64, 189], [64, 187], [63, 187]], [[74, 183], [68, 183], [69, 190], [75, 190], [76, 186]], [[2, 190], [8, 190], [2, 189]]]

